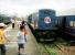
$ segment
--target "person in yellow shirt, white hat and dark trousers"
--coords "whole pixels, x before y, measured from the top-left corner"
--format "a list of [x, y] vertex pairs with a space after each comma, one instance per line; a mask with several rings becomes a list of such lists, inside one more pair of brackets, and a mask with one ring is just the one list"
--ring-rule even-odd
[[1, 50], [1, 55], [6, 55], [6, 42], [9, 41], [6, 37], [6, 33], [4, 33], [4, 23], [0, 23], [0, 50]]

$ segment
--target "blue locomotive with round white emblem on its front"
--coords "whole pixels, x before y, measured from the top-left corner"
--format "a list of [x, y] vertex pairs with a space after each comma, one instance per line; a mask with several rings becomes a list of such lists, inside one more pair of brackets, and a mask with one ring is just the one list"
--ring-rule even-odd
[[35, 31], [34, 34], [38, 41], [55, 41], [60, 21], [55, 16], [54, 10], [39, 10], [39, 12], [29, 15], [28, 22], [30, 28]]

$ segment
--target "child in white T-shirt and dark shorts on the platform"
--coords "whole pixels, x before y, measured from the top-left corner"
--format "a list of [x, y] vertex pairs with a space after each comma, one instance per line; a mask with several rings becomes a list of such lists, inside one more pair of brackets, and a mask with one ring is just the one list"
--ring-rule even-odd
[[18, 32], [18, 45], [19, 45], [19, 55], [24, 53], [24, 44], [25, 44], [25, 36], [24, 36], [24, 26], [20, 26], [20, 31]]

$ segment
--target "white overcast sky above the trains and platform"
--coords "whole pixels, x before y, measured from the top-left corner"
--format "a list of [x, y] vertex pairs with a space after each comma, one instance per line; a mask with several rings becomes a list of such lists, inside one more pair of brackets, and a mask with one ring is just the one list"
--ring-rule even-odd
[[26, 15], [39, 9], [67, 10], [75, 8], [75, 0], [0, 0], [0, 12]]

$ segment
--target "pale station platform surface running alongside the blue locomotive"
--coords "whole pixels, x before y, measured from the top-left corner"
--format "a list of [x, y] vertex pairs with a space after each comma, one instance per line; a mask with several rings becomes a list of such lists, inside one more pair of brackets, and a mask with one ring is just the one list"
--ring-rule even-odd
[[[18, 55], [18, 44], [17, 44], [17, 33], [18, 28], [12, 29], [11, 24], [6, 29], [6, 35], [10, 40], [6, 44], [7, 55]], [[33, 34], [31, 33], [29, 26], [26, 25], [26, 44], [25, 44], [25, 55], [44, 55], [42, 54], [41, 48], [39, 47]]]

